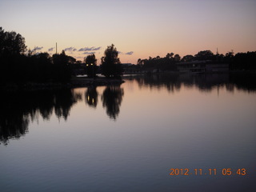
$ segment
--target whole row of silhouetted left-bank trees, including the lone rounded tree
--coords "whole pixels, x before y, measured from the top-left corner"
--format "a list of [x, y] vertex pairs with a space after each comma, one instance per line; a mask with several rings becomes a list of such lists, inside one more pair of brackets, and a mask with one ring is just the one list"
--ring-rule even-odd
[[[122, 65], [118, 51], [112, 44], [105, 50], [100, 69], [94, 54], [88, 55], [83, 70], [90, 78], [95, 78], [100, 70], [107, 78], [119, 77]], [[75, 69], [75, 58], [65, 54], [36, 53], [27, 50], [25, 38], [14, 31], [6, 32], [0, 27], [0, 84], [14, 82], [69, 82]], [[78, 69], [81, 67], [78, 65]], [[81, 69], [82, 70], [82, 69]]]

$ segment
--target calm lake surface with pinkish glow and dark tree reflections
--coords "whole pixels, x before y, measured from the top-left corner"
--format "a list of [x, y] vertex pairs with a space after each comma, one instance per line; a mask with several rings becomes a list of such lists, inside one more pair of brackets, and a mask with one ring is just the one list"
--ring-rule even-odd
[[0, 191], [256, 191], [256, 92], [228, 74], [2, 93]]

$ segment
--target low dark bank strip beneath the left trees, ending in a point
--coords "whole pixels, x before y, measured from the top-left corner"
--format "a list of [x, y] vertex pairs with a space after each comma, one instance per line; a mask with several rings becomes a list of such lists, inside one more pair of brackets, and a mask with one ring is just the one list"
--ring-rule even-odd
[[122, 79], [116, 78], [86, 78], [86, 77], [72, 77], [70, 82], [26, 82], [26, 83], [7, 83], [0, 86], [0, 90], [16, 91], [16, 90], [54, 90], [54, 89], [72, 89], [77, 87], [88, 86], [120, 86]]

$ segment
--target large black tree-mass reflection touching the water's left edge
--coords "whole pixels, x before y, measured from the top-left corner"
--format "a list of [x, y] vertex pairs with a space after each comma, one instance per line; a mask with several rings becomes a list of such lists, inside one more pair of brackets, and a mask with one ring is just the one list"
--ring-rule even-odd
[[48, 90], [17, 93], [0, 93], [0, 143], [7, 144], [11, 138], [20, 138], [28, 132], [30, 121], [49, 120], [54, 113], [66, 118], [75, 102], [82, 99], [72, 90]]

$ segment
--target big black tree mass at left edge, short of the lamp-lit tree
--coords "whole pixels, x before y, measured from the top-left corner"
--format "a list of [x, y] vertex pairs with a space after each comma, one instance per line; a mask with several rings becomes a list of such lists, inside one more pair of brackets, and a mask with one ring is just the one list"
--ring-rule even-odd
[[61, 54], [37, 54], [28, 50], [25, 38], [0, 27], [0, 80], [8, 82], [67, 82], [71, 77], [70, 64], [74, 58]]

